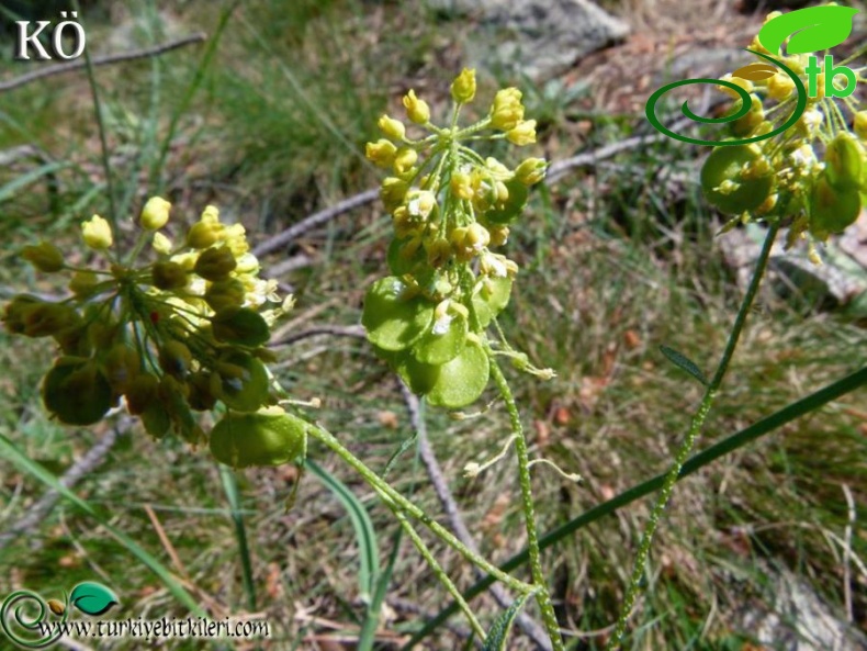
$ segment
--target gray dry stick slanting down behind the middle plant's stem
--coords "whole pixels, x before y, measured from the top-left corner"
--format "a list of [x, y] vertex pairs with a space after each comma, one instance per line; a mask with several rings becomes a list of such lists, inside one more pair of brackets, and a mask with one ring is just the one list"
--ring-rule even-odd
[[[463, 542], [473, 553], [481, 555], [478, 546], [475, 543], [475, 539], [473, 538], [472, 534], [470, 534], [466, 525], [463, 523], [461, 512], [458, 508], [458, 503], [454, 501], [454, 497], [449, 490], [449, 483], [446, 481], [446, 478], [442, 474], [442, 469], [440, 468], [437, 457], [430, 447], [430, 441], [427, 437], [427, 428], [421, 427], [418, 399], [406, 388], [403, 382], [401, 382], [401, 392], [403, 393], [406, 408], [409, 412], [409, 419], [413, 424], [413, 429], [418, 433], [418, 453], [421, 457], [421, 462], [427, 469], [430, 483], [434, 484], [434, 492], [437, 493], [437, 497], [440, 501], [442, 510], [446, 513], [449, 525], [451, 525], [452, 531], [454, 531], [454, 535], [461, 542]], [[477, 579], [484, 579], [485, 575], [485, 573], [477, 568], [475, 569], [475, 574]], [[499, 583], [492, 584], [488, 591], [503, 609], [507, 609], [515, 602], [515, 597], [513, 597]], [[550, 651], [551, 640], [549, 639], [548, 633], [545, 633], [544, 629], [539, 624], [537, 624], [532, 617], [521, 611], [518, 614], [516, 624], [523, 631], [523, 633], [536, 643], [537, 648], [543, 649], [544, 651]]]

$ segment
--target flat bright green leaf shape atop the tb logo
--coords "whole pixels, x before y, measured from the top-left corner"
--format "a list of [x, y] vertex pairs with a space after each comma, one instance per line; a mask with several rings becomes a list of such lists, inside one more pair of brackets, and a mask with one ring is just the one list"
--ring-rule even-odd
[[848, 38], [856, 13], [857, 9], [834, 5], [791, 11], [768, 21], [758, 32], [758, 42], [775, 56], [789, 36], [789, 55], [827, 49]]

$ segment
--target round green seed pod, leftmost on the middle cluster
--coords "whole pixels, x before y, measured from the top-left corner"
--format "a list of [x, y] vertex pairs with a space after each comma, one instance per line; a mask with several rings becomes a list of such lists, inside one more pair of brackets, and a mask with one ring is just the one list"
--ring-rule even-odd
[[375, 346], [403, 350], [429, 327], [434, 307], [420, 295], [410, 296], [409, 290], [394, 276], [378, 280], [368, 290], [361, 324]]

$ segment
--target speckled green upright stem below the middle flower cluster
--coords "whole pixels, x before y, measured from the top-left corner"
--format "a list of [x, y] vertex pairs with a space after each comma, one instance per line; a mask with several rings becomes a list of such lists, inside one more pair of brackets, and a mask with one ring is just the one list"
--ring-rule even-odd
[[536, 529], [536, 510], [533, 508], [532, 484], [530, 481], [530, 459], [527, 453], [527, 439], [523, 437], [521, 418], [518, 413], [518, 405], [511, 395], [508, 382], [506, 382], [503, 371], [497, 364], [493, 351], [488, 348], [488, 359], [491, 360], [491, 374], [497, 385], [500, 397], [506, 404], [511, 420], [511, 431], [515, 437], [515, 451], [518, 456], [518, 481], [521, 486], [521, 507], [523, 510], [525, 527], [527, 528], [527, 550], [530, 554], [530, 573], [533, 577], [533, 585], [537, 588], [536, 601], [542, 613], [548, 636], [551, 638], [553, 651], [563, 651], [563, 639], [560, 637], [560, 625], [556, 621], [554, 606], [551, 604], [551, 595], [548, 592], [548, 580], [542, 571], [541, 554], [539, 552], [539, 534]]

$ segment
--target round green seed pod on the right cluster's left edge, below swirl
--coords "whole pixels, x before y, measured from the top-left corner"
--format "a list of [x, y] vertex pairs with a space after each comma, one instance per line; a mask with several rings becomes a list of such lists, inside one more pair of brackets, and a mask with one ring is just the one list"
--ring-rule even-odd
[[761, 151], [748, 145], [714, 148], [701, 167], [701, 190], [708, 202], [729, 215], [762, 205], [774, 188], [774, 176], [742, 176], [744, 166], [761, 157]]

